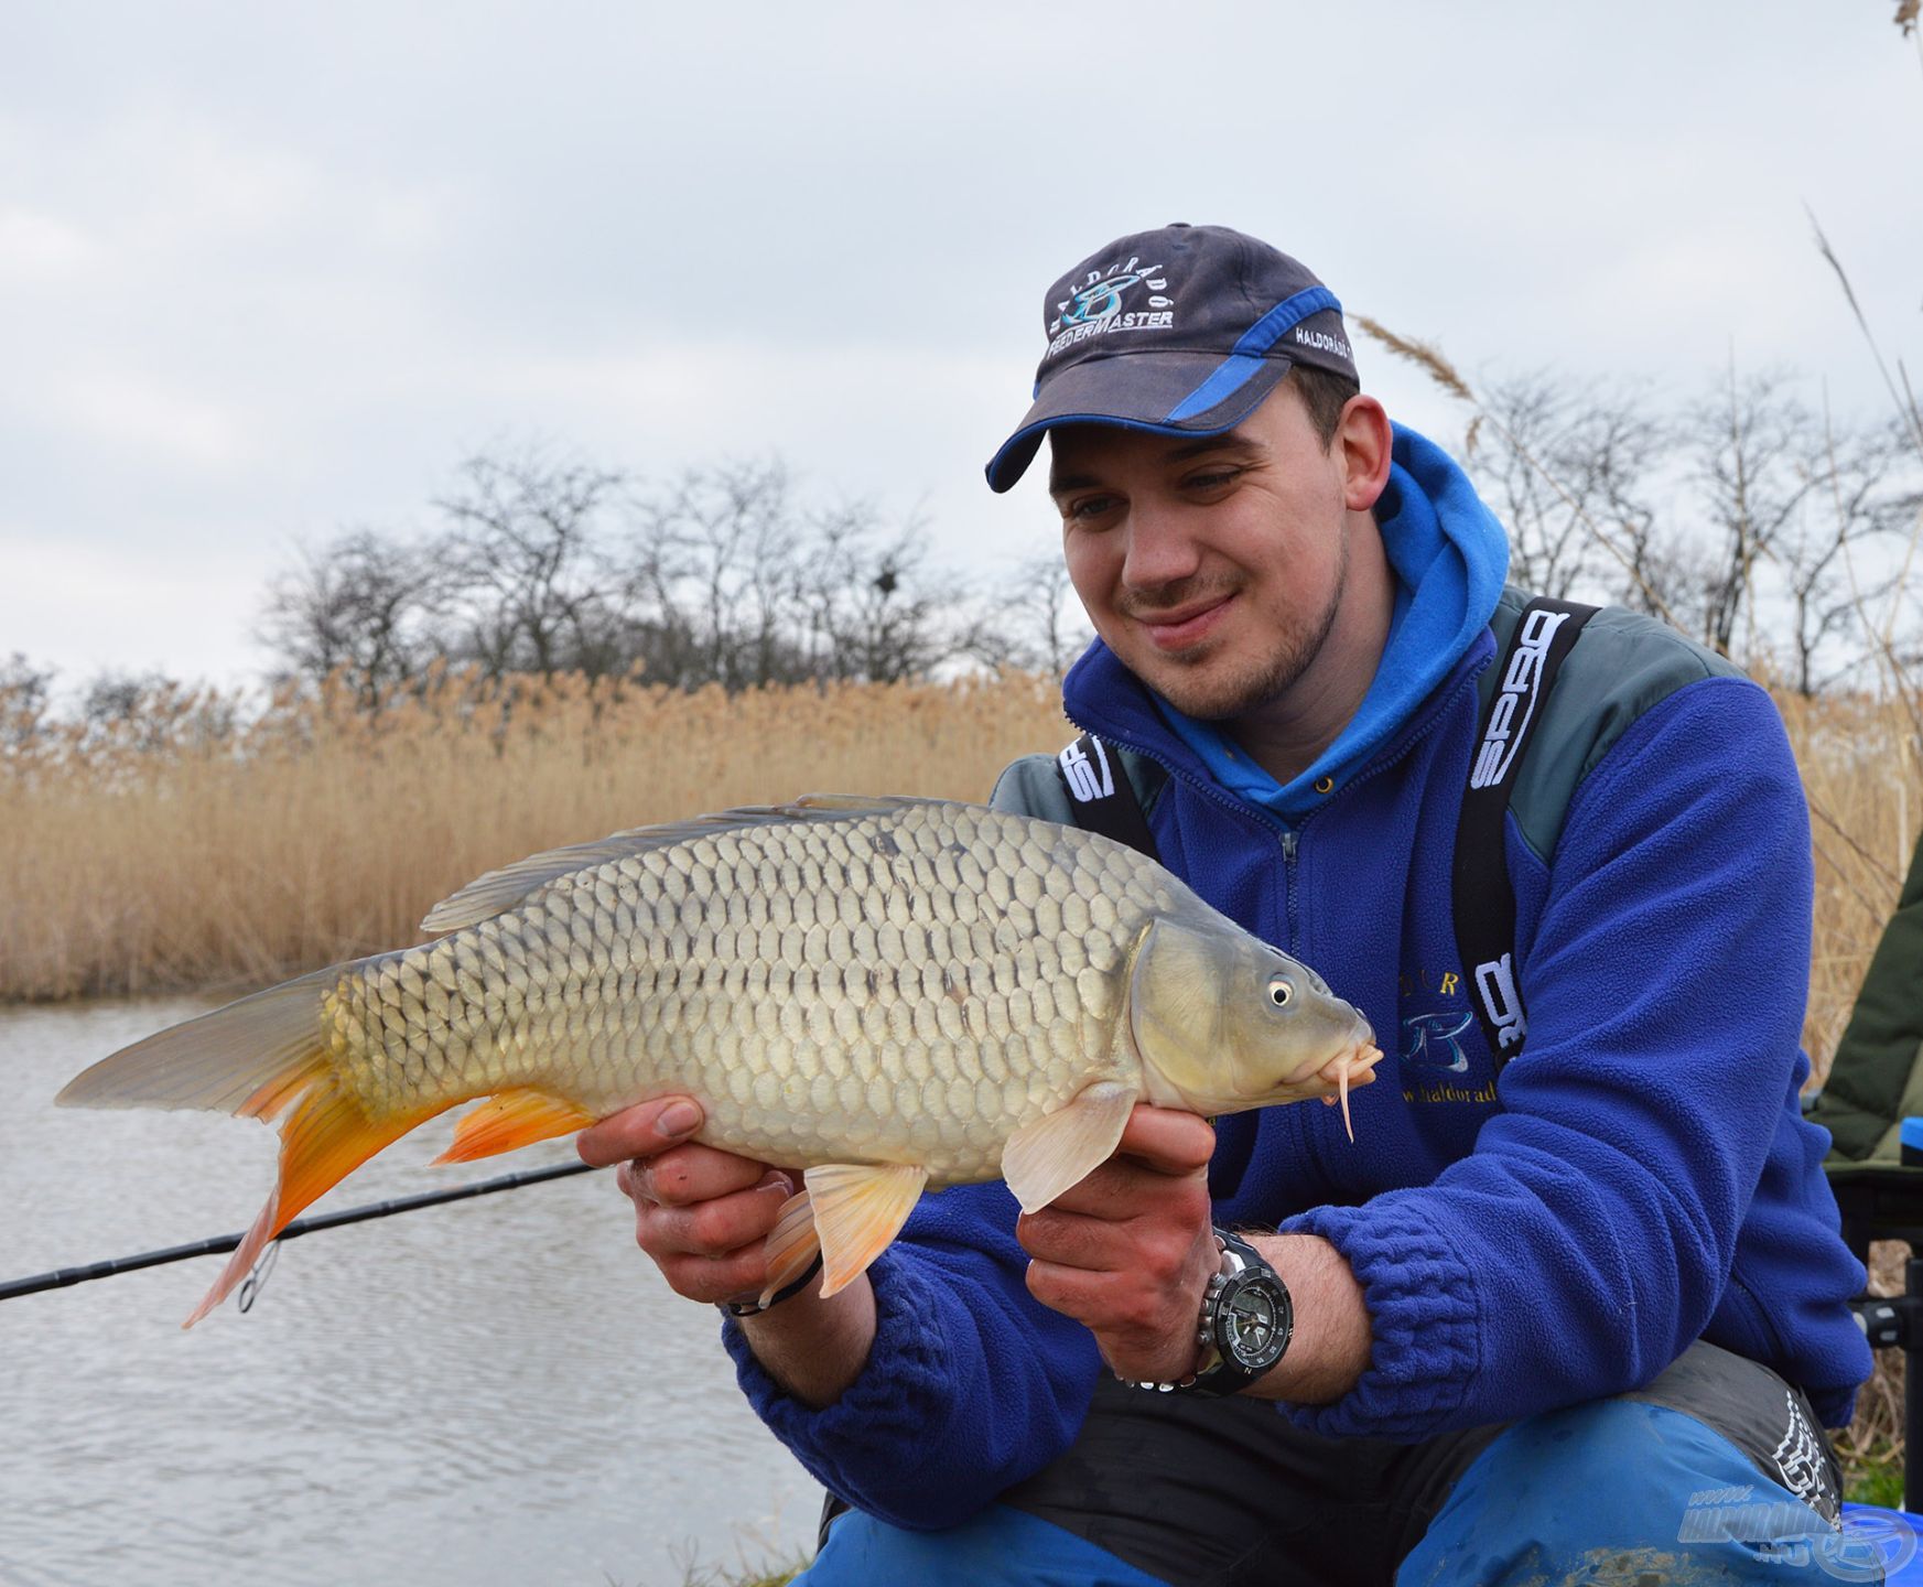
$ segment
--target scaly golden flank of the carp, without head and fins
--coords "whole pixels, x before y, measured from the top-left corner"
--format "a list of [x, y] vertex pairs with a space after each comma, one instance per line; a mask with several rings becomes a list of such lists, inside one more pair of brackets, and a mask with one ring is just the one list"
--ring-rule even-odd
[[[802, 1106], [812, 1093], [777, 1083], [819, 1071], [846, 1077], [831, 1091], [860, 1118], [852, 1145], [869, 1156], [921, 1162], [931, 1183], [992, 1177], [1010, 1116], [1036, 1116], [1121, 1071], [1125, 1060], [1104, 1050], [1113, 1046], [1106, 1025], [1135, 933], [1098, 893], [1108, 856], [1079, 833], [1056, 827], [1044, 848], [1027, 833], [992, 841], [988, 823], [983, 844], [985, 823], [967, 806], [912, 816], [748, 827], [606, 862], [550, 885], [538, 904], [477, 923], [477, 943], [348, 968], [329, 1025], [354, 1095], [379, 1120], [440, 1089], [473, 1095], [469, 1073], [494, 1087], [563, 1085], [598, 1112], [677, 1089], [704, 1102], [713, 1135], [773, 1162], [806, 1162], [850, 1143], [846, 1123], [817, 1123], [812, 1100]], [[740, 887], [771, 873], [796, 891]], [[983, 891], [1004, 898], [1000, 929], [977, 908]], [[1136, 894], [1150, 912], [1175, 904], [1167, 889]], [[1063, 908], [1069, 898], [1085, 908]], [[858, 933], [865, 962], [854, 956]], [[615, 943], [646, 946], [625, 987], [608, 973], [627, 958]], [[483, 975], [490, 964], [523, 964], [537, 995], [490, 1006], [487, 991], [475, 998], [463, 985], [462, 958]], [[742, 996], [763, 977], [788, 998], [779, 1031], [767, 1029], [763, 1004]], [[1013, 1027], [1023, 1004], [1025, 1033]], [[383, 1041], [396, 1021], [408, 1041], [398, 1068]], [[619, 1041], [598, 1041], [602, 1029]], [[619, 1062], [627, 1043], [638, 1062]], [[542, 1062], [517, 1071], [504, 1062], [515, 1046]], [[1027, 1079], [1061, 1060], [1081, 1066], [1054, 1085]], [[777, 1081], [758, 1085], [763, 1068]], [[933, 1148], [931, 1131], [913, 1127], [929, 1110], [950, 1116]]]

